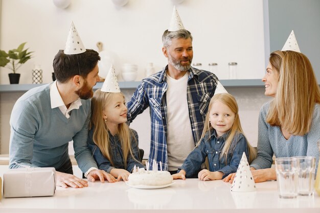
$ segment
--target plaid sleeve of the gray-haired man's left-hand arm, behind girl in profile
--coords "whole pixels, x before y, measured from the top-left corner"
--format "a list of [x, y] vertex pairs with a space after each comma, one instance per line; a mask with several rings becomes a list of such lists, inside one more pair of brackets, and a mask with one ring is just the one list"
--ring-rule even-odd
[[127, 103], [127, 123], [130, 124], [137, 115], [141, 114], [146, 108], [149, 107], [147, 92], [144, 89], [144, 81], [136, 88], [130, 101]]

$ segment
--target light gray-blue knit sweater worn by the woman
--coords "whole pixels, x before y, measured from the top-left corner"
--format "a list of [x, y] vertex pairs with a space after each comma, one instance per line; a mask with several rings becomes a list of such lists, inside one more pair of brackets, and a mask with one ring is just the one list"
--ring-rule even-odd
[[276, 157], [314, 156], [319, 160], [317, 140], [320, 138], [320, 105], [314, 106], [310, 131], [303, 135], [291, 135], [287, 140], [278, 126], [270, 126], [266, 116], [270, 102], [265, 103], [259, 113], [258, 122], [258, 156], [250, 164], [255, 169], [270, 168], [273, 153]]

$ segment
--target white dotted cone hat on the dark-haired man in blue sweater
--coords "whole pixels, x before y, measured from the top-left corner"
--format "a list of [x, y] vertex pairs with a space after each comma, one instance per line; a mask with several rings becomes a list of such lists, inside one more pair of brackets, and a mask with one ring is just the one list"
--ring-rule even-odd
[[84, 53], [85, 51], [86, 50], [78, 34], [78, 31], [74, 23], [72, 22], [68, 37], [66, 39], [64, 54], [74, 55], [74, 54]]

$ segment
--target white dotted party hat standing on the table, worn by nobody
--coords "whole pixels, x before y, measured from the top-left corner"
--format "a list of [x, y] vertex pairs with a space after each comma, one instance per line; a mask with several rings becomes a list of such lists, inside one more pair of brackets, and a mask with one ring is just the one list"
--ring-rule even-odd
[[256, 183], [252, 177], [247, 157], [243, 152], [235, 179], [231, 186], [231, 192], [254, 191], [256, 191]]

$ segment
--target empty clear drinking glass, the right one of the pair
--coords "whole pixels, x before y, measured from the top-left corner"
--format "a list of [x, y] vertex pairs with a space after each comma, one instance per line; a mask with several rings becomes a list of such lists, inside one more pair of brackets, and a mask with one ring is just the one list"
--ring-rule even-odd
[[297, 156], [298, 160], [298, 195], [313, 195], [315, 157]]

